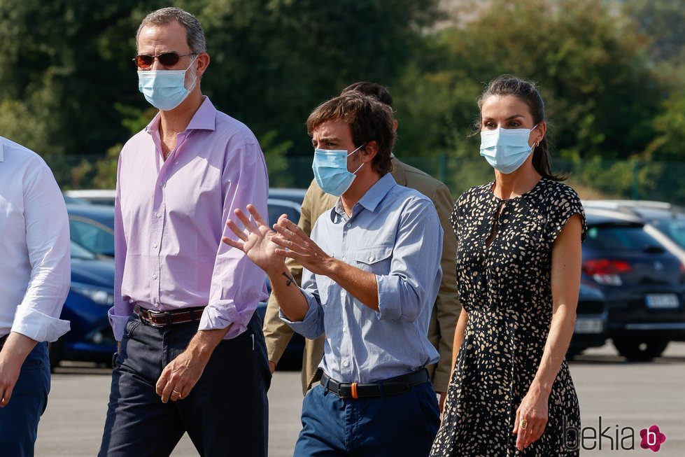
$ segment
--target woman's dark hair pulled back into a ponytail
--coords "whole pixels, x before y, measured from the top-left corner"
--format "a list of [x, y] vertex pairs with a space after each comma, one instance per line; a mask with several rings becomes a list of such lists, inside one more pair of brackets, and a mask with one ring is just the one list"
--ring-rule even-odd
[[[534, 124], [537, 125], [543, 121], [547, 122], [544, 111], [544, 101], [542, 101], [542, 96], [540, 95], [540, 92], [537, 91], [535, 83], [511, 75], [497, 76], [497, 78], [488, 83], [488, 87], [486, 87], [486, 90], [483, 91], [481, 97], [478, 99], [479, 110], [483, 108], [483, 103], [485, 103], [486, 99], [489, 97], [503, 97], [505, 95], [514, 95], [514, 97], [517, 97], [528, 105]], [[480, 130], [482, 125], [480, 112], [477, 122], [478, 125], [476, 127]], [[565, 179], [568, 178], [567, 174], [554, 174], [552, 172], [549, 141], [547, 140], [546, 135], [540, 140], [539, 146], [534, 146], [534, 148], [532, 153], [532, 166], [535, 168], [535, 171], [542, 175], [543, 178], [553, 179], [554, 181], [565, 181]]]

